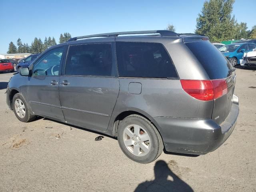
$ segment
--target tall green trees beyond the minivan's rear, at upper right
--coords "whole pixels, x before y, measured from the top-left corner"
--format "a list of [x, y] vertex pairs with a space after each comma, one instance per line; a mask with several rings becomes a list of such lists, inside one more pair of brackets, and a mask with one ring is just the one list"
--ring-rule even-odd
[[[247, 23], [238, 23], [235, 16], [231, 16], [233, 4], [234, 0], [206, 0], [196, 19], [195, 33], [208, 36], [211, 42], [242, 38], [255, 39], [256, 25], [248, 30]], [[174, 25], [168, 24], [166, 30], [175, 32], [176, 28]]]

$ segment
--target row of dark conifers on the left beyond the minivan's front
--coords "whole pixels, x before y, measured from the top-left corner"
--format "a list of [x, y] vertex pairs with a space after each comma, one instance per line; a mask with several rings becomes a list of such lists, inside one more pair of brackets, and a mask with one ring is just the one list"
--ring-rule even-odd
[[[59, 43], [64, 43], [68, 41], [71, 38], [70, 33], [64, 33], [60, 34], [59, 38]], [[9, 48], [7, 51], [7, 54], [12, 54], [12, 53], [42, 53], [44, 50], [50, 48], [51, 46], [56, 45], [56, 40], [54, 37], [45, 37], [44, 42], [42, 42], [41, 38], [34, 38], [34, 41], [32, 41], [31, 45], [29, 46], [27, 43], [23, 43], [20, 38], [17, 40], [17, 46], [13, 43], [9, 43]]]

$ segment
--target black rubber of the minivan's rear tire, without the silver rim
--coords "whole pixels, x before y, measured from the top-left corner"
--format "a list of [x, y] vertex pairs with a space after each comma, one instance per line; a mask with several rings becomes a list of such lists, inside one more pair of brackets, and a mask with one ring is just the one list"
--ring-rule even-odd
[[[148, 133], [151, 146], [150, 151], [145, 156], [135, 156], [126, 148], [124, 144], [124, 130], [127, 126], [131, 124], [141, 126]], [[156, 128], [150, 122], [136, 116], [128, 116], [124, 118], [124, 120], [122, 120], [122, 122], [118, 126], [118, 143], [124, 154], [131, 160], [142, 164], [150, 163], [158, 157], [158, 152], [160, 149], [160, 141], [156, 135], [156, 132]]]

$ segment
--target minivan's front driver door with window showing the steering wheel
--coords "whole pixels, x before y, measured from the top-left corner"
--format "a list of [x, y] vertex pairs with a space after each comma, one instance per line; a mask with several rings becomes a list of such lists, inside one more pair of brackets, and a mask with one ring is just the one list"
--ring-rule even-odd
[[46, 52], [34, 63], [28, 84], [28, 100], [32, 111], [41, 116], [64, 121], [60, 106], [59, 80], [64, 47]]

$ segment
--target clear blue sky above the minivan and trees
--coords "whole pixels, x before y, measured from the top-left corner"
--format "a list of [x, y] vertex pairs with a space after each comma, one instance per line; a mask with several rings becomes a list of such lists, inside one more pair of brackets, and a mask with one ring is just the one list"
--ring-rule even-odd
[[[72, 37], [107, 32], [162, 30], [193, 33], [205, 0], [0, 0], [0, 54], [9, 43], [69, 32]], [[256, 25], [256, 0], [236, 0], [233, 13], [248, 29]], [[246, 11], [248, 10], [248, 11]]]

